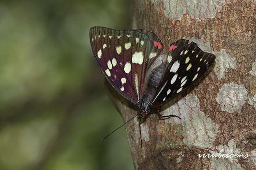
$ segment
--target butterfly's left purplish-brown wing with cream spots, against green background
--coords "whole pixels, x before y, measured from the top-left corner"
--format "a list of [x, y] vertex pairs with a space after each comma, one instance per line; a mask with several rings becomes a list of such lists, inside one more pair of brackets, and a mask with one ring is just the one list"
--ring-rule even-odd
[[93, 54], [107, 80], [129, 102], [137, 105], [145, 89], [149, 56], [152, 52], [160, 52], [154, 46], [153, 38], [140, 30], [92, 27], [90, 41]]

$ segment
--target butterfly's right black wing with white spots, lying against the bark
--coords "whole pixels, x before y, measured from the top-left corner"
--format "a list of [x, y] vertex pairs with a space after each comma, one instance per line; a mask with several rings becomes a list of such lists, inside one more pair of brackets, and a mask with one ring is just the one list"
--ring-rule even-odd
[[215, 56], [202, 51], [194, 42], [178, 40], [169, 46], [167, 68], [152, 107], [163, 105], [204, 74]]

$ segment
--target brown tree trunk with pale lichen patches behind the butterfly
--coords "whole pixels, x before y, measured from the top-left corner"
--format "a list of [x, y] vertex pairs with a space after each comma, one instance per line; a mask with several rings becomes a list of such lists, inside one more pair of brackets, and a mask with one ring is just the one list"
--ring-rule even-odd
[[[167, 103], [159, 120], [126, 126], [136, 170], [255, 170], [256, 168], [256, 1], [134, 0], [133, 29], [155, 32], [167, 46], [196, 42], [216, 55], [206, 75]], [[137, 114], [126, 100], [110, 97], [128, 120]], [[199, 158], [199, 153], [248, 153], [242, 158]]]

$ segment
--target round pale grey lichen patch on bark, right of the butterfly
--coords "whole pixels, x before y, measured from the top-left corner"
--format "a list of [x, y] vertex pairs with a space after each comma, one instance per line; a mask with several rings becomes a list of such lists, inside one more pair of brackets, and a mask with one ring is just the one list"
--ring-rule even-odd
[[217, 94], [216, 101], [219, 103], [222, 111], [233, 113], [240, 112], [242, 106], [247, 100], [247, 90], [244, 85], [235, 83], [224, 84]]

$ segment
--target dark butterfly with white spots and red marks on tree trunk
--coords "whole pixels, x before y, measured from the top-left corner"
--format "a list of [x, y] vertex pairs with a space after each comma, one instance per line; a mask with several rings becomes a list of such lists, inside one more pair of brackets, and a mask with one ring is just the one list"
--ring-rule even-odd
[[133, 118], [139, 120], [192, 85], [215, 59], [184, 39], [171, 43], [164, 54], [161, 40], [146, 30], [96, 26], [90, 29], [90, 41], [101, 71], [119, 94], [138, 107]]

